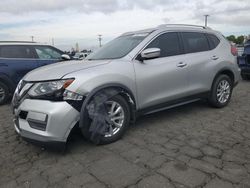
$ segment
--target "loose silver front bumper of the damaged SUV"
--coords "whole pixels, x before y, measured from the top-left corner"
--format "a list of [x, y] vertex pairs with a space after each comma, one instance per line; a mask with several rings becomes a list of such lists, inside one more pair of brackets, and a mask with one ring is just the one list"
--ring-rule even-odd
[[14, 127], [26, 140], [65, 143], [79, 121], [79, 112], [67, 102], [25, 99], [14, 109]]

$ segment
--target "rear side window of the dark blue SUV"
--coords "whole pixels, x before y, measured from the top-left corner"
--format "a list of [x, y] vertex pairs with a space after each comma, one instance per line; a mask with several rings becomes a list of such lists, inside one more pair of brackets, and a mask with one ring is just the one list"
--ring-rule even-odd
[[2, 46], [0, 48], [0, 57], [3, 58], [35, 58], [30, 46]]

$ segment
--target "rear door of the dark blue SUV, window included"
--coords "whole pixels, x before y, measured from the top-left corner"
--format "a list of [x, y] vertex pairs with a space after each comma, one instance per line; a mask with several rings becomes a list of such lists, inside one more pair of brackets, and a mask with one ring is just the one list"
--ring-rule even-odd
[[0, 73], [15, 84], [29, 71], [38, 67], [34, 49], [29, 45], [0, 46]]

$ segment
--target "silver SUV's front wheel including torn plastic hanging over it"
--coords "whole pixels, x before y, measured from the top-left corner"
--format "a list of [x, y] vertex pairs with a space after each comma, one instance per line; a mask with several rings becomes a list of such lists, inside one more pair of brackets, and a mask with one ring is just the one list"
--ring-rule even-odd
[[109, 144], [119, 140], [130, 122], [129, 105], [122, 96], [115, 95], [103, 105], [106, 112], [101, 110], [101, 113], [97, 114], [95, 111], [94, 117], [90, 117], [86, 110], [81, 127], [83, 136], [96, 144]]

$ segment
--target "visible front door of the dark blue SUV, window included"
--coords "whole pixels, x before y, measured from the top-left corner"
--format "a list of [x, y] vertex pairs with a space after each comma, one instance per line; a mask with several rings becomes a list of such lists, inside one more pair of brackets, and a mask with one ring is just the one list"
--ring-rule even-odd
[[62, 61], [63, 52], [52, 46], [34, 45], [37, 54], [37, 63], [39, 66], [49, 65]]

